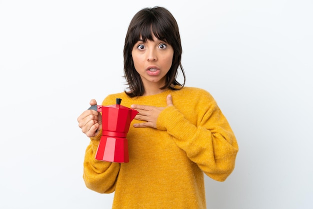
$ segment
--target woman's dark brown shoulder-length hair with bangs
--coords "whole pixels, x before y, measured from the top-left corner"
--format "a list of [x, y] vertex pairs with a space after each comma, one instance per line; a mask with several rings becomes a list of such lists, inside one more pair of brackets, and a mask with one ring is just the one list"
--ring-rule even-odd
[[[128, 84], [129, 91], [125, 93], [130, 96], [141, 96], [144, 93], [143, 83], [140, 75], [135, 70], [131, 51], [134, 44], [142, 37], [143, 41], [153, 40], [154, 35], [159, 40], [170, 44], [174, 50], [172, 65], [166, 74], [165, 85], [160, 89], [169, 88], [179, 90], [184, 86], [185, 73], [181, 65], [181, 42], [178, 25], [173, 15], [164, 7], [155, 6], [139, 10], [131, 19], [125, 37], [123, 56], [124, 56], [124, 77]], [[183, 83], [177, 80], [177, 69], [180, 68], [183, 75]], [[173, 86], [179, 85], [175, 88]]]

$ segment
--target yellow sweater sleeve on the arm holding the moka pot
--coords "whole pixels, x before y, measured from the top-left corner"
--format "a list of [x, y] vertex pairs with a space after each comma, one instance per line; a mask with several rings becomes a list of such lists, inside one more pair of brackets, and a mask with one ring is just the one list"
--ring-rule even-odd
[[95, 153], [99, 144], [100, 133], [90, 138], [83, 162], [83, 180], [86, 187], [99, 193], [111, 193], [119, 172], [119, 163], [96, 160]]

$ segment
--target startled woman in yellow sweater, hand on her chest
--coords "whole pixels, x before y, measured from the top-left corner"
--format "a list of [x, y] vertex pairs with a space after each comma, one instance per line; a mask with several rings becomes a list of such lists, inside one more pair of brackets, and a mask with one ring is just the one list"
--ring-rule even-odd
[[119, 97], [139, 112], [127, 133], [129, 162], [96, 160], [101, 116], [89, 109], [77, 118], [90, 137], [83, 179], [92, 190], [115, 192], [112, 208], [206, 208], [203, 173], [223, 181], [234, 168], [237, 142], [214, 98], [176, 80], [178, 69], [185, 78], [181, 52], [178, 26], [167, 9], [134, 15], [123, 50], [128, 89], [102, 102]]

